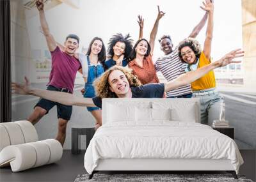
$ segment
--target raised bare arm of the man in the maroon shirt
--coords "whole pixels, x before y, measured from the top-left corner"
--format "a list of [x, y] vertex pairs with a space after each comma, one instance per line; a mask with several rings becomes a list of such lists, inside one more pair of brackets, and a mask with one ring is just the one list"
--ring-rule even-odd
[[48, 49], [50, 51], [53, 51], [57, 47], [57, 43], [54, 40], [52, 34], [50, 33], [47, 21], [45, 19], [45, 14], [44, 14], [44, 0], [36, 0], [36, 8], [39, 11], [39, 17], [40, 17], [40, 24], [42, 27], [42, 31], [44, 33]]

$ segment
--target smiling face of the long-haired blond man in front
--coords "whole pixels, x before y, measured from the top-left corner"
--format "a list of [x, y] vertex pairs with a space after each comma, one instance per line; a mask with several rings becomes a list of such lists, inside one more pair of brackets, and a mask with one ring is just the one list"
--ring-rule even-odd
[[118, 97], [124, 97], [129, 93], [130, 84], [125, 74], [120, 70], [113, 70], [108, 77], [109, 89]]

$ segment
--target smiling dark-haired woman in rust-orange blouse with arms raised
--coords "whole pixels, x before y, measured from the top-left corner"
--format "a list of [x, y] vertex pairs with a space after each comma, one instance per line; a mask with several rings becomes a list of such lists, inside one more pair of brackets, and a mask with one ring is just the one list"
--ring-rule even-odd
[[[159, 6], [157, 6], [157, 8], [158, 15], [154, 27], [150, 33], [149, 42], [145, 38], [138, 40], [132, 49], [131, 56], [129, 57], [128, 66], [129, 68], [132, 68], [132, 73], [138, 77], [141, 84], [159, 82], [156, 75], [155, 66], [152, 61], [152, 54], [154, 50], [154, 43], [156, 40], [159, 20], [163, 17], [164, 12], [159, 10]], [[141, 17], [139, 17], [139, 20], [141, 21]]]

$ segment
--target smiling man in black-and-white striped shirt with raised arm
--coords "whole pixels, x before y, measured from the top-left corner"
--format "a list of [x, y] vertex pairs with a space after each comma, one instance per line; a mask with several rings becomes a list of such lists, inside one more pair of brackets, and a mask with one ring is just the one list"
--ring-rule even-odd
[[[189, 37], [195, 38], [202, 27], [204, 27], [206, 20], [207, 13], [205, 13], [199, 24], [195, 26]], [[170, 82], [171, 80], [179, 77], [179, 75], [185, 73], [186, 64], [180, 61], [177, 47], [173, 50], [172, 39], [170, 36], [162, 36], [159, 43], [161, 44], [161, 50], [164, 52], [164, 56], [157, 59], [155, 68], [157, 72], [161, 72], [164, 75], [164, 78]], [[173, 89], [166, 93], [167, 98], [191, 98], [191, 96], [192, 91], [190, 84]]]

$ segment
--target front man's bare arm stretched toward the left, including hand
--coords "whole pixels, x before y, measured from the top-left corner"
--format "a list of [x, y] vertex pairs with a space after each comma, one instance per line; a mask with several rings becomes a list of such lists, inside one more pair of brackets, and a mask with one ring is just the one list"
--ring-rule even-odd
[[25, 77], [25, 84], [12, 82], [12, 91], [20, 95], [34, 95], [53, 102], [62, 103], [64, 105], [77, 105], [86, 107], [95, 107], [92, 98], [80, 98], [70, 93], [58, 91], [47, 91], [43, 89], [34, 89], [29, 87], [29, 80]]

